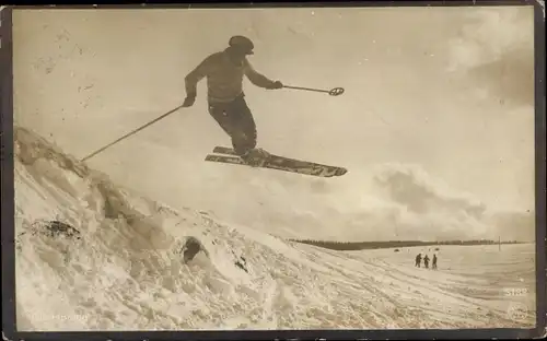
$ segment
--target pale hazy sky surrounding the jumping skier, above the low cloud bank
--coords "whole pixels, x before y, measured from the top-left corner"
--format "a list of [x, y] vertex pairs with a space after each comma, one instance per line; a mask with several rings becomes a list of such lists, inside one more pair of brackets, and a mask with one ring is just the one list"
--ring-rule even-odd
[[392, 164], [488, 210], [534, 208], [532, 7], [14, 12], [15, 121], [78, 157], [179, 105], [184, 77], [231, 35], [255, 42], [249, 61], [274, 80], [345, 87], [244, 85], [259, 146], [342, 178], [205, 163], [230, 145], [205, 82], [194, 107], [89, 161], [172, 205], [322, 220], [374, 207]]

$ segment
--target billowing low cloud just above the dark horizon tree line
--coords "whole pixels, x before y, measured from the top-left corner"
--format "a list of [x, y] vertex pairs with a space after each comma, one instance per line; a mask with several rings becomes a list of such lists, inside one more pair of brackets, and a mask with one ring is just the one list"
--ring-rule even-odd
[[450, 240], [497, 238], [500, 233], [503, 238], [515, 236], [502, 227], [510, 224], [509, 220], [491, 220], [484, 202], [452, 189], [420, 166], [384, 164], [372, 179], [372, 187], [361, 189], [366, 193], [361, 207], [339, 223], [338, 239]]

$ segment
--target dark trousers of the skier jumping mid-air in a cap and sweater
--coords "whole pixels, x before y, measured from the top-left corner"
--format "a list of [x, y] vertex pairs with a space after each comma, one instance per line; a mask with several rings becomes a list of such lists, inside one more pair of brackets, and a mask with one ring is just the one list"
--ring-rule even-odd
[[209, 103], [209, 114], [232, 139], [235, 153], [256, 146], [256, 125], [244, 95], [229, 103]]

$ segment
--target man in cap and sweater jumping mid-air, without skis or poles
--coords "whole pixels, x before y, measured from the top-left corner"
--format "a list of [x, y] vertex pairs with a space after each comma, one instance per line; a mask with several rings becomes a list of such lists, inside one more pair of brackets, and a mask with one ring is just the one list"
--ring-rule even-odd
[[[229, 47], [205, 58], [185, 78], [186, 99], [183, 107], [194, 105], [197, 83], [207, 78], [209, 114], [232, 139], [232, 146], [240, 157], [246, 160], [251, 152], [258, 155], [268, 153], [256, 148], [256, 125], [253, 114], [245, 102], [243, 77], [256, 86], [281, 89], [280, 81], [271, 81], [255, 71], [246, 56], [253, 55], [254, 44], [244, 36], [233, 36]], [[253, 153], [256, 154], [256, 153]]]

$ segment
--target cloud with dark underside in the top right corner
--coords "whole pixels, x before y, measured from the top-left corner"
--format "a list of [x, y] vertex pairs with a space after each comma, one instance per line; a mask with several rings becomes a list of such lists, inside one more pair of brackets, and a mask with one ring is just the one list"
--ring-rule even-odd
[[534, 13], [528, 8], [470, 12], [450, 40], [449, 70], [504, 105], [534, 105]]

